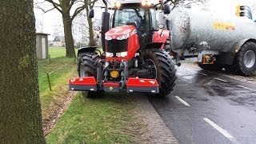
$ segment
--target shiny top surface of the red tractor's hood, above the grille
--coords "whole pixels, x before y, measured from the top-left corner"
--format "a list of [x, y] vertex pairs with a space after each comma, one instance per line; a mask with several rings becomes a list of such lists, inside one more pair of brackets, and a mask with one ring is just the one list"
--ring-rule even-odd
[[112, 39], [123, 40], [137, 33], [136, 27], [132, 25], [118, 26], [110, 29], [105, 34], [105, 39], [110, 41]]

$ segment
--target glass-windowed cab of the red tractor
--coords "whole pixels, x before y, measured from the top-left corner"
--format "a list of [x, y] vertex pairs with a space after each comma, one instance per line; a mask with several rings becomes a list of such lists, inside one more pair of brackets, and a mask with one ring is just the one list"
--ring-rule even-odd
[[150, 6], [142, 6], [141, 2], [138, 3], [116, 3], [116, 10], [114, 10], [114, 17], [112, 27], [132, 25], [136, 27], [139, 44], [145, 46], [151, 42], [150, 33], [156, 29], [156, 21], [152, 21], [152, 15], [156, 14], [154, 9], [150, 9]]

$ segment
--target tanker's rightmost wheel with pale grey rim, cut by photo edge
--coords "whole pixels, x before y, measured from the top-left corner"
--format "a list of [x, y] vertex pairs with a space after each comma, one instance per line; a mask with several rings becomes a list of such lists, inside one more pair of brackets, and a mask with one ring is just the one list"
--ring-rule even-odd
[[246, 42], [238, 51], [234, 58], [233, 65], [230, 66], [235, 74], [250, 76], [256, 71], [256, 43]]

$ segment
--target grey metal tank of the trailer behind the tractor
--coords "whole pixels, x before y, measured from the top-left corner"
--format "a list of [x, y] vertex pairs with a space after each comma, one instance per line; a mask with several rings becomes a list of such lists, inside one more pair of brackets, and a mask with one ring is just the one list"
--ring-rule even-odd
[[220, 52], [237, 52], [239, 42], [256, 39], [256, 24], [246, 17], [223, 17], [205, 10], [175, 8], [168, 16], [171, 49], [190, 47]]

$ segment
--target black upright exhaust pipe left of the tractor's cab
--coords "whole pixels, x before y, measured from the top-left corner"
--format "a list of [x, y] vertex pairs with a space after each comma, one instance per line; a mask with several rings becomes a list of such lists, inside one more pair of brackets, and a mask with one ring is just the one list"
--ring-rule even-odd
[[102, 12], [102, 49], [106, 52], [105, 34], [110, 30], [110, 13], [108, 12], [108, 6], [106, 0], [102, 0], [105, 4], [105, 11]]

